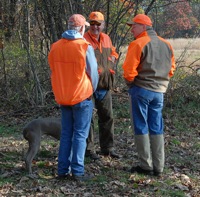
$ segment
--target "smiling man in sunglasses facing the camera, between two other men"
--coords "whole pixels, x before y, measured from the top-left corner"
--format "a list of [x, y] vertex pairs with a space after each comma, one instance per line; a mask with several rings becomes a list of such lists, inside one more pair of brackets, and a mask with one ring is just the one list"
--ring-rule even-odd
[[[118, 54], [112, 45], [110, 37], [103, 33], [105, 26], [104, 16], [101, 12], [91, 12], [89, 16], [90, 29], [84, 35], [94, 48], [98, 63], [99, 83], [93, 94], [98, 115], [99, 141], [102, 155], [113, 158], [120, 156], [114, 151], [114, 120], [112, 111], [111, 89], [114, 82], [114, 66]], [[98, 159], [94, 148], [94, 121], [92, 121], [89, 137], [87, 139], [86, 156]]]

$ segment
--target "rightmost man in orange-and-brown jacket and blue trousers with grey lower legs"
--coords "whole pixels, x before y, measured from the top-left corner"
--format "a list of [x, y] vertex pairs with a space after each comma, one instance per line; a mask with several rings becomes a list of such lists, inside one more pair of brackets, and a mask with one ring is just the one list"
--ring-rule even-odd
[[161, 176], [164, 168], [163, 93], [175, 70], [172, 46], [157, 36], [151, 19], [136, 15], [131, 22], [135, 40], [123, 64], [129, 87], [139, 165], [131, 172]]

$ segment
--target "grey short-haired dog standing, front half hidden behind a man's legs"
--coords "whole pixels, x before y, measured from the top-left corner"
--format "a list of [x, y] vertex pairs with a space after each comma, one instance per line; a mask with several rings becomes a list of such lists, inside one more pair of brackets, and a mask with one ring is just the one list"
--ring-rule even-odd
[[23, 129], [23, 136], [29, 143], [25, 156], [26, 169], [32, 174], [32, 161], [40, 148], [42, 135], [46, 134], [60, 140], [61, 119], [39, 118], [29, 122]]

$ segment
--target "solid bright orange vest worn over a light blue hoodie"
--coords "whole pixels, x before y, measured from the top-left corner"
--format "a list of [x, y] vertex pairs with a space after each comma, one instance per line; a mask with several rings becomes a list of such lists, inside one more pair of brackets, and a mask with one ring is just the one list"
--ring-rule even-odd
[[62, 38], [52, 45], [48, 60], [58, 104], [74, 105], [92, 95], [93, 87], [85, 70], [88, 44], [83, 39]]

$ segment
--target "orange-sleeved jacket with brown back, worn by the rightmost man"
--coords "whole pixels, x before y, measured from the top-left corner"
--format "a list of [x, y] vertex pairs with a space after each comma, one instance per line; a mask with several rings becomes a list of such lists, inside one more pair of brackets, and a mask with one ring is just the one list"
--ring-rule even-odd
[[137, 85], [155, 92], [166, 92], [175, 70], [172, 46], [147, 27], [147, 31], [130, 43], [122, 67], [130, 87]]

